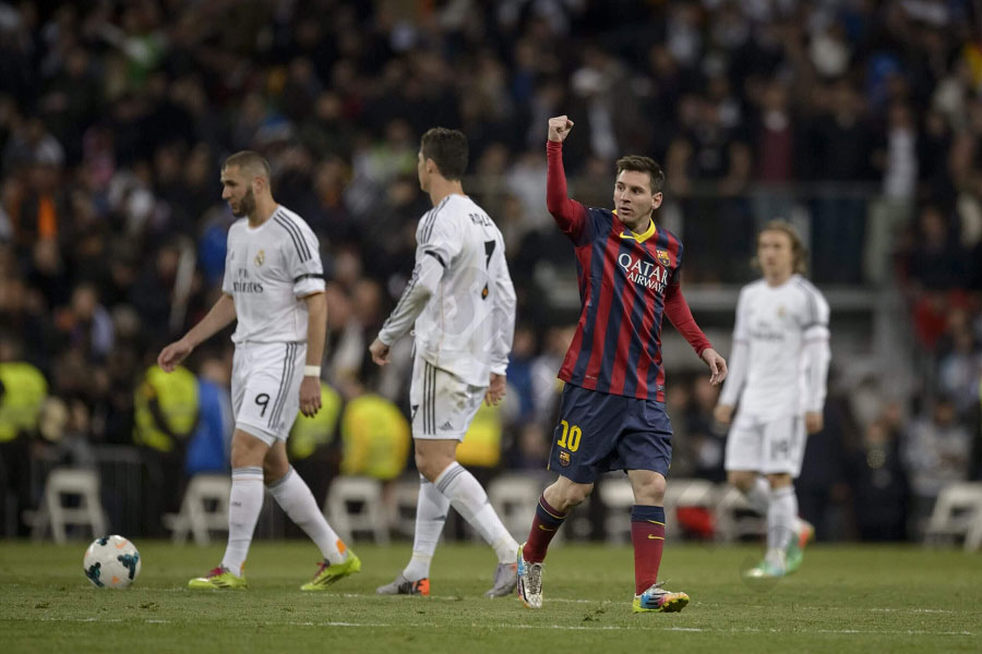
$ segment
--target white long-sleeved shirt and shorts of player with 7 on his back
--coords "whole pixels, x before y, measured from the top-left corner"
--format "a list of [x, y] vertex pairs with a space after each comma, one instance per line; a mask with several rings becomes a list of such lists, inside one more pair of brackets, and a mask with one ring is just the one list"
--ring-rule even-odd
[[515, 289], [498, 227], [451, 194], [419, 221], [416, 267], [379, 339], [415, 324], [409, 401], [416, 438], [463, 439], [491, 374], [504, 375], [515, 331]]

